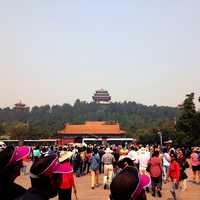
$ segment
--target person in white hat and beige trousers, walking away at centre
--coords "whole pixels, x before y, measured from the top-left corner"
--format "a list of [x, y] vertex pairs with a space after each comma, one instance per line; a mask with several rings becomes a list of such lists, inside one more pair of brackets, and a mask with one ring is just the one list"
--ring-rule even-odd
[[107, 185], [110, 186], [113, 176], [113, 163], [115, 162], [115, 158], [112, 155], [112, 150], [110, 148], [106, 148], [105, 154], [102, 156], [102, 163], [104, 164], [104, 178], [103, 184], [104, 189], [107, 188]]

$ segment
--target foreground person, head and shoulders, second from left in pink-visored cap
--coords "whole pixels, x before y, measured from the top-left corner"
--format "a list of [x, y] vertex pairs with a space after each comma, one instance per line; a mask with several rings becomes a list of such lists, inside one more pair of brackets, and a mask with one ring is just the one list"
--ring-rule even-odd
[[61, 174], [71, 173], [58, 161], [58, 156], [49, 155], [36, 159], [30, 169], [31, 188], [17, 200], [48, 200], [57, 195]]

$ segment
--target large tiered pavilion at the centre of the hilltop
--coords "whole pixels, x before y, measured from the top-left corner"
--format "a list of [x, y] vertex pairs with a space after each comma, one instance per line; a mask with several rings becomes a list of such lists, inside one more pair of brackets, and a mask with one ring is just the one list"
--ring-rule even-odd
[[106, 90], [96, 90], [95, 94], [92, 96], [92, 99], [96, 103], [110, 103], [111, 96]]

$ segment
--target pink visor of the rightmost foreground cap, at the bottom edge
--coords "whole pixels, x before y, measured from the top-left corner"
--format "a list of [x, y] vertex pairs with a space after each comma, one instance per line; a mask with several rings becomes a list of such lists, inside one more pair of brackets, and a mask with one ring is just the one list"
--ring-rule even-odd
[[151, 179], [148, 175], [138, 175], [138, 179], [139, 179], [138, 185], [135, 191], [131, 195], [131, 200], [136, 199], [140, 195], [142, 190], [150, 186], [151, 184]]

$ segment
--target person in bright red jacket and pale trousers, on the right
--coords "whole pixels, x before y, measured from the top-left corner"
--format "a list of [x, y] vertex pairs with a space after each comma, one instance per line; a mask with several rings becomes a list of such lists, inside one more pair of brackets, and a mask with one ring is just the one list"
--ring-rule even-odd
[[171, 163], [169, 165], [168, 177], [170, 177], [170, 192], [174, 200], [179, 199], [179, 179], [180, 165], [177, 162], [177, 156], [174, 152], [170, 153]]

